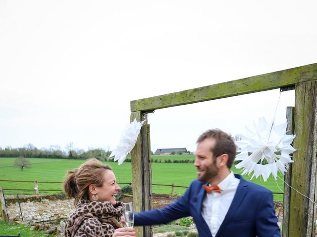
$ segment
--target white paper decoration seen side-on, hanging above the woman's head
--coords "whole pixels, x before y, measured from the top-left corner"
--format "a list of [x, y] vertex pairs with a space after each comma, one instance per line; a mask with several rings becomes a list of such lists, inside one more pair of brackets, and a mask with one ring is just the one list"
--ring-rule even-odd
[[137, 120], [134, 118], [133, 122], [127, 124], [120, 137], [119, 144], [111, 152], [109, 158], [114, 156], [113, 160], [118, 160], [119, 165], [122, 164], [129, 152], [131, 152], [134, 148], [144, 122], [145, 121], [137, 122]]

